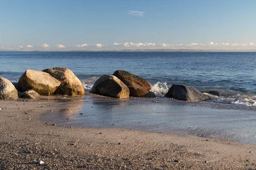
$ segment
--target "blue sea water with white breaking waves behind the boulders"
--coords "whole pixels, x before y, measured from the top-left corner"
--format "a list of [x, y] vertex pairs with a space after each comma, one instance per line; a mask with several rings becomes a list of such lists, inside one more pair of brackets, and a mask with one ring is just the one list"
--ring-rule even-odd
[[129, 71], [163, 96], [172, 84], [217, 90], [211, 102], [256, 105], [255, 52], [0, 52], [0, 76], [17, 82], [26, 69], [64, 67], [85, 90], [104, 74]]

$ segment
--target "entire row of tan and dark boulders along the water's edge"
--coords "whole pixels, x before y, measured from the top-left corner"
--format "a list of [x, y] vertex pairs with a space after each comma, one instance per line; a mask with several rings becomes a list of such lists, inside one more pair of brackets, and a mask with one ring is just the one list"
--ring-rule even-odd
[[[129, 96], [155, 98], [155, 94], [149, 91], [151, 88], [147, 80], [128, 71], [117, 70], [113, 75], [100, 77], [90, 93], [119, 99], [127, 99]], [[28, 69], [14, 84], [0, 77], [0, 99], [18, 99], [18, 94], [20, 98], [30, 99], [52, 94], [74, 96], [84, 95], [84, 88], [76, 75], [67, 68], [47, 68], [43, 71]], [[184, 85], [172, 85], [165, 97], [185, 101], [209, 99], [208, 95], [196, 88]]]

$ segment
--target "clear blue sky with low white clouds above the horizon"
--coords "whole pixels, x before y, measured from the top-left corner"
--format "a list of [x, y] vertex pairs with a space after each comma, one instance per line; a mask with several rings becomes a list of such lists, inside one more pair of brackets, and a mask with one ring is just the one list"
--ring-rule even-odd
[[255, 0], [0, 0], [0, 50], [256, 49]]

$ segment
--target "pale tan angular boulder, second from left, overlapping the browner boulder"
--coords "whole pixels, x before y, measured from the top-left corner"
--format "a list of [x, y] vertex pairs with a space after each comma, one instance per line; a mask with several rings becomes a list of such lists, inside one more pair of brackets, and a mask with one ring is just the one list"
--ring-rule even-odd
[[34, 90], [42, 96], [52, 95], [61, 82], [43, 71], [26, 70], [19, 79], [20, 91]]

